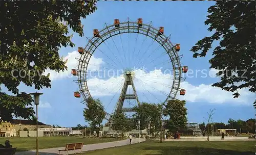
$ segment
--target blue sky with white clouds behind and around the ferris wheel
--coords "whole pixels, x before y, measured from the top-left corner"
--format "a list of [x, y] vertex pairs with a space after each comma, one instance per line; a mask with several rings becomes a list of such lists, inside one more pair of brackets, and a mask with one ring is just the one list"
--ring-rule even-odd
[[[204, 25], [204, 21], [207, 16], [207, 9], [214, 4], [215, 2], [188, 1], [99, 1], [96, 12], [82, 20], [85, 36], [79, 37], [74, 34], [72, 41], [76, 46], [60, 49], [60, 55], [68, 58], [67, 65], [69, 70], [58, 74], [58, 76], [56, 76], [56, 73], [51, 72], [52, 88], [40, 90], [44, 95], [40, 98], [39, 121], [65, 127], [87, 124], [82, 116], [84, 108], [84, 105], [80, 103], [82, 98], [73, 96], [73, 92], [79, 89], [78, 85], [73, 82], [76, 77], [70, 74], [71, 69], [77, 68], [75, 57], [79, 57], [79, 54], [76, 50], [79, 46], [84, 47], [88, 43], [86, 37], [93, 36], [93, 29], [103, 29], [105, 27], [104, 23], [113, 24], [114, 19], [119, 19], [122, 22], [127, 20], [127, 17], [131, 21], [142, 18], [143, 23], [152, 21], [153, 27], [164, 27], [164, 34], [166, 36], [171, 35], [170, 41], [181, 44], [181, 50], [179, 51], [179, 54], [183, 55], [181, 65], [188, 66], [190, 73], [184, 74], [186, 80], [181, 84], [181, 88], [186, 89], [186, 95], [178, 95], [178, 98], [187, 101], [186, 107], [188, 109], [189, 122], [204, 121], [203, 117], [207, 117], [209, 109], [214, 108], [216, 112], [212, 117], [212, 121], [227, 122], [229, 118], [235, 120], [254, 118], [255, 110], [252, 107], [252, 102], [255, 99], [255, 94], [248, 92], [246, 89], [240, 90], [241, 97], [233, 99], [232, 93], [211, 87], [212, 83], [219, 80], [217, 77], [213, 77], [215, 70], [208, 69], [210, 66], [208, 60], [212, 57], [212, 51], [209, 51], [206, 57], [197, 59], [193, 58], [193, 53], [189, 51], [198, 40], [212, 34], [212, 32], [208, 32], [208, 27]], [[90, 60], [89, 63], [92, 65], [89, 68], [93, 70], [105, 67], [105, 71], [108, 71], [110, 69], [135, 67], [137, 70], [136, 76], [140, 76], [134, 80], [140, 101], [163, 101], [166, 98], [165, 93], [169, 91], [169, 86], [172, 84], [170, 75], [164, 71], [172, 68], [172, 66], [168, 63], [156, 65], [161, 62], [167, 62], [168, 57], [166, 55], [162, 56], [164, 50], [159, 48], [159, 45], [155, 42], [150, 46], [152, 40], [149, 38], [145, 39], [144, 36], [138, 35], [137, 42], [136, 38], [137, 34], [118, 35], [113, 38], [114, 41], [109, 39], [105, 44], [101, 44], [99, 50], [95, 51], [93, 58]], [[145, 41], [143, 42], [144, 39]], [[157, 57], [159, 59], [156, 59]], [[141, 67], [144, 69], [139, 69]], [[160, 67], [162, 67], [161, 70], [159, 70]], [[207, 73], [209, 72], [207, 77], [202, 77], [204, 75], [201, 72], [203, 69]], [[196, 70], [198, 70], [197, 74], [195, 73]], [[103, 72], [98, 71], [92, 73], [92, 75], [96, 76], [97, 73], [102, 75]], [[102, 100], [107, 112], [111, 113], [115, 106], [120, 94], [119, 88], [123, 84], [121, 80], [121, 75], [116, 74], [114, 77], [88, 77], [90, 92], [93, 97]], [[28, 88], [24, 85], [20, 85], [19, 90], [25, 92], [35, 91], [33, 88]], [[132, 92], [132, 89], [129, 88], [128, 91]], [[126, 102], [125, 107], [132, 107], [133, 104], [135, 102]]]

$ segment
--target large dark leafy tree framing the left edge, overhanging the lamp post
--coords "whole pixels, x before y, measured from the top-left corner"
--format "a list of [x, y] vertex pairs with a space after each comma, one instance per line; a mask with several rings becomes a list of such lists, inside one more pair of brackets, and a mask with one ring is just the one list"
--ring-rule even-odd
[[31, 96], [17, 87], [51, 87], [50, 74], [44, 71], [67, 69], [58, 50], [74, 46], [68, 27], [83, 36], [81, 18], [93, 13], [95, 4], [96, 0], [0, 1], [0, 85], [13, 94], [0, 92], [0, 121], [34, 116]]

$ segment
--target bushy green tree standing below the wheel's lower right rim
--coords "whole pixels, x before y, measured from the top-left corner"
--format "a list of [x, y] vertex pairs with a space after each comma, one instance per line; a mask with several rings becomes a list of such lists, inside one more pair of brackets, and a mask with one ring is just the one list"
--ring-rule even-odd
[[169, 117], [166, 122], [170, 131], [177, 131], [186, 127], [187, 109], [185, 108], [185, 104], [185, 100], [172, 99], [168, 100], [165, 105], [163, 115]]

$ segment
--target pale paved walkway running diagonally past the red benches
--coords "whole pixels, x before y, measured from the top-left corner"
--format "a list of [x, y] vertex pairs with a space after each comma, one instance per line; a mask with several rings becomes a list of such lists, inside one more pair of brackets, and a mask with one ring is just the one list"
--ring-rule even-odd
[[[96, 149], [103, 149], [103, 148], [110, 148], [110, 147], [116, 147], [116, 146], [123, 146], [123, 145], [129, 145], [130, 140], [121, 140], [121, 141], [115, 141], [115, 142], [108, 142], [108, 143], [98, 143], [98, 144], [88, 144], [83, 145], [82, 151], [90, 151], [90, 150], [96, 150]], [[144, 139], [132, 139], [132, 144], [139, 143], [145, 141]], [[63, 144], [65, 145], [65, 144]], [[57, 148], [47, 148], [47, 149], [39, 149], [40, 155], [56, 155], [58, 154], [59, 149], [65, 149], [65, 147], [57, 147]], [[77, 151], [76, 151], [77, 152]], [[69, 151], [69, 154], [74, 153], [74, 151]], [[36, 150], [31, 151], [23, 151], [23, 152], [16, 152], [15, 155], [34, 155], [36, 154]], [[66, 152], [61, 152], [61, 154], [66, 154]]]

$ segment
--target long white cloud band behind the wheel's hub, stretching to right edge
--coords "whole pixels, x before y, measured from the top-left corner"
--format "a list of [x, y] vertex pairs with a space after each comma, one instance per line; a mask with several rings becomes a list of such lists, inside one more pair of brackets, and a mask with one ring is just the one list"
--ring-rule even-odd
[[[215, 74], [215, 70], [212, 73]], [[212, 76], [211, 76], [212, 77]], [[168, 94], [172, 87], [172, 75], [162, 73], [161, 70], [145, 72], [143, 70], [135, 70], [134, 84], [137, 92], [151, 92], [152, 94]], [[92, 78], [88, 80], [88, 87], [93, 96], [118, 95], [124, 82], [122, 76], [111, 77], [108, 80]], [[239, 90], [241, 96], [233, 98], [233, 92], [227, 92], [218, 87], [212, 87], [211, 84], [201, 84], [194, 86], [188, 82], [181, 82], [180, 88], [186, 90], [184, 96], [177, 95], [179, 99], [185, 99], [190, 102], [205, 101], [214, 104], [225, 104], [232, 102], [236, 104], [250, 105], [253, 99], [253, 93], [247, 89]], [[140, 97], [139, 97], [140, 98]]]

